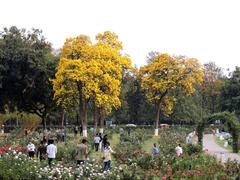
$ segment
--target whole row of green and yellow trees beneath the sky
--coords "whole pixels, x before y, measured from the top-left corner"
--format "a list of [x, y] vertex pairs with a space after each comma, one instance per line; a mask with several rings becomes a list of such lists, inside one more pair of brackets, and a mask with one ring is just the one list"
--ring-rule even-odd
[[[0, 33], [0, 112], [26, 112], [42, 125], [66, 121], [103, 131], [114, 123], [195, 124], [228, 110], [240, 115], [240, 69], [225, 75], [214, 62], [150, 52], [146, 65], [132, 66], [110, 31], [95, 43], [79, 35], [58, 52], [42, 31], [4, 28]], [[0, 116], [1, 117], [1, 116]], [[1, 118], [0, 118], [1, 119]]]

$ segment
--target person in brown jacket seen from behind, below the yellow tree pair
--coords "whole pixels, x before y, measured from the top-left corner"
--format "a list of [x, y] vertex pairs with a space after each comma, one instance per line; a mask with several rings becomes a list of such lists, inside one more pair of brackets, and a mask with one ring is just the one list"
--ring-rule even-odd
[[77, 161], [77, 166], [80, 164], [85, 163], [85, 161], [88, 158], [88, 147], [87, 147], [87, 140], [83, 139], [81, 144], [77, 145], [76, 148], [76, 161]]

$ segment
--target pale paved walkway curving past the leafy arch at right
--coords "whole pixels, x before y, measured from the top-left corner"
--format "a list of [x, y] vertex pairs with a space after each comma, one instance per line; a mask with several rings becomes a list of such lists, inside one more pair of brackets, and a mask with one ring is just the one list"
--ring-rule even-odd
[[238, 160], [240, 162], [240, 156], [236, 153], [231, 153], [228, 150], [220, 147], [215, 142], [215, 136], [212, 134], [205, 134], [203, 136], [203, 147], [208, 149], [208, 153], [217, 156], [218, 159], [222, 161], [227, 161], [227, 159]]

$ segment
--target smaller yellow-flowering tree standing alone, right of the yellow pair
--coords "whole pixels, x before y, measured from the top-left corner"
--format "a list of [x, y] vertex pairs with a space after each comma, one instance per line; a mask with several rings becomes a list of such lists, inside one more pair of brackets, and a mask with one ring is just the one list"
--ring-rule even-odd
[[196, 59], [185, 56], [170, 56], [156, 53], [143, 66], [139, 75], [141, 87], [149, 102], [156, 110], [155, 135], [158, 135], [160, 111], [165, 115], [172, 113], [177, 99], [174, 91], [180, 89], [187, 94], [195, 91], [194, 84], [202, 82], [202, 69]]

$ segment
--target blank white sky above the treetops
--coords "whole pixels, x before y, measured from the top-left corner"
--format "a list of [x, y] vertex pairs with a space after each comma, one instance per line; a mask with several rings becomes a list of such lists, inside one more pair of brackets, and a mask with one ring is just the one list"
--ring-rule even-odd
[[41, 29], [56, 49], [113, 31], [137, 67], [150, 51], [240, 66], [239, 0], [1, 0], [0, 29], [12, 25]]

